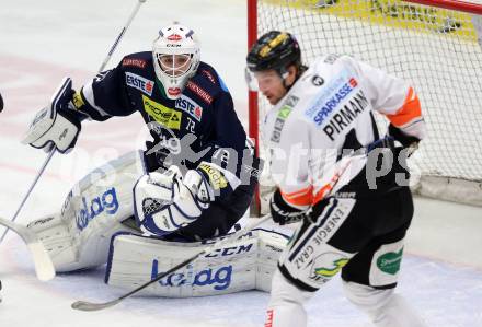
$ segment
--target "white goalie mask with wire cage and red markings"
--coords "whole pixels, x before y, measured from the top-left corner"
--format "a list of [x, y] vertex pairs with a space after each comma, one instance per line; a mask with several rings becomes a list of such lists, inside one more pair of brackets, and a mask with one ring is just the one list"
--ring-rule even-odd
[[172, 24], [159, 31], [152, 48], [154, 71], [169, 98], [181, 95], [199, 66], [199, 43], [193, 30]]

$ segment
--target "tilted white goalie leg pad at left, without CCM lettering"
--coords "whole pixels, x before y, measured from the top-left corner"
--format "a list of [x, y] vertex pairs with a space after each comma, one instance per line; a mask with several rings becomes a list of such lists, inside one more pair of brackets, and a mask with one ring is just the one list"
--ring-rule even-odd
[[105, 264], [112, 235], [133, 231], [122, 222], [134, 214], [133, 187], [144, 174], [139, 154], [128, 153], [95, 170], [74, 185], [59, 213], [30, 224], [56, 271]]

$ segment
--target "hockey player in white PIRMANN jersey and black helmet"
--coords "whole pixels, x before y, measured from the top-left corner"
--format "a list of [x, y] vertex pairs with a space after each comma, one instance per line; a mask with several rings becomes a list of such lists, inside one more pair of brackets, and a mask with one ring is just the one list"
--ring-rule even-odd
[[[425, 326], [394, 293], [413, 215], [405, 159], [425, 136], [414, 90], [348, 56], [308, 68], [284, 32], [259, 38], [246, 61], [250, 89], [274, 105], [262, 126], [277, 183], [273, 220], [301, 221], [278, 261], [265, 326], [306, 326], [305, 303], [337, 272], [376, 326]], [[374, 112], [403, 147], [380, 138]]]

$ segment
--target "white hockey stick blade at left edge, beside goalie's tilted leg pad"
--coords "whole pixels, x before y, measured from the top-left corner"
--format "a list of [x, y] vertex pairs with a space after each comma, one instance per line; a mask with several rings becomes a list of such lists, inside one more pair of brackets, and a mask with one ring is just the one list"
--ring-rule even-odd
[[12, 230], [25, 242], [34, 259], [35, 272], [39, 280], [47, 281], [55, 277], [54, 264], [35, 232], [4, 218], [0, 218], [0, 225]]

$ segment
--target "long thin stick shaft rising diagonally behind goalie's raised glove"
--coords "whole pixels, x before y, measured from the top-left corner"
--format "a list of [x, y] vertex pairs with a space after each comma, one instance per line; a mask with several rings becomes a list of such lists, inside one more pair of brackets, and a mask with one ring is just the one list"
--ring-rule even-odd
[[[123, 38], [124, 34], [126, 33], [127, 28], [129, 27], [130, 23], [133, 22], [134, 17], [136, 16], [137, 12], [139, 11], [140, 5], [142, 3], [145, 3], [146, 1], [147, 0], [138, 0], [136, 7], [134, 8], [133, 12], [130, 13], [130, 15], [128, 17], [126, 24], [124, 25], [119, 35], [115, 39], [111, 49], [108, 50], [107, 56], [105, 57], [104, 61], [102, 62], [101, 67], [99, 68], [99, 72], [101, 72], [105, 68], [105, 66], [107, 65], [108, 60], [111, 59], [112, 55], [114, 54], [115, 49], [117, 48], [117, 45], [119, 44], [120, 39]], [[15, 214], [13, 215], [13, 218], [10, 221], [12, 221], [12, 222], [15, 221], [16, 217], [19, 215], [20, 211], [22, 210], [23, 206], [25, 205], [26, 200], [28, 199], [30, 194], [34, 189], [34, 187], [37, 184], [41, 176], [44, 174], [44, 171], [47, 167], [48, 163], [50, 162], [51, 157], [54, 156], [55, 152], [56, 152], [56, 148], [54, 147], [54, 149], [51, 149], [50, 152], [48, 153], [48, 156], [45, 159], [44, 164], [42, 165], [41, 170], [38, 171], [37, 175], [35, 176], [35, 179], [32, 183], [31, 187], [28, 188], [28, 191], [23, 197], [22, 202], [20, 203], [19, 208], [15, 211]], [[0, 237], [0, 243], [3, 241], [3, 238], [5, 238], [8, 232], [9, 232], [9, 227], [7, 227], [7, 230], [3, 232], [3, 235]]]

